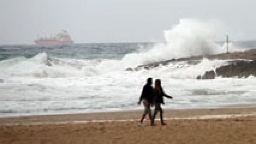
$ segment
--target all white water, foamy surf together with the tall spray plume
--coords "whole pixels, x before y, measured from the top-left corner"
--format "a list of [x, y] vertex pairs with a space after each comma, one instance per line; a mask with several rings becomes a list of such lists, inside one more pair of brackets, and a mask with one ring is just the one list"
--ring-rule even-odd
[[184, 19], [165, 31], [165, 44], [130, 53], [121, 60], [50, 57], [0, 61], [0, 117], [90, 111], [142, 109], [136, 105], [147, 77], [160, 78], [167, 94], [164, 108], [209, 108], [256, 103], [255, 77], [197, 81], [226, 60], [202, 59], [197, 64], [169, 63], [150, 70], [125, 71], [147, 62], [219, 53], [215, 25]]

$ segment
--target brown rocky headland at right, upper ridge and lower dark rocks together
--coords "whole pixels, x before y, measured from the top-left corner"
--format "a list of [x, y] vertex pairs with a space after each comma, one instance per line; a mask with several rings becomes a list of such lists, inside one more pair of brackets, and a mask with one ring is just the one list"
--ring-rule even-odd
[[214, 79], [216, 76], [222, 77], [248, 77], [256, 76], [256, 50], [236, 51], [231, 53], [221, 53], [213, 55], [199, 55], [186, 58], [172, 58], [161, 62], [147, 63], [135, 68], [127, 68], [127, 71], [139, 71], [140, 69], [152, 69], [164, 66], [169, 63], [186, 62], [188, 64], [198, 64], [203, 58], [210, 60], [228, 60], [229, 64], [217, 69], [206, 71], [204, 75], [197, 76], [197, 79]]

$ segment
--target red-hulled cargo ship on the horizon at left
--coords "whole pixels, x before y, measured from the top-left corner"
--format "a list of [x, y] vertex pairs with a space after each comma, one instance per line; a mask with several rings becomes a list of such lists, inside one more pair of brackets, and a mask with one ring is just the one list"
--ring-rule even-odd
[[34, 42], [37, 45], [70, 45], [74, 43], [66, 30], [61, 30], [54, 37], [40, 37]]

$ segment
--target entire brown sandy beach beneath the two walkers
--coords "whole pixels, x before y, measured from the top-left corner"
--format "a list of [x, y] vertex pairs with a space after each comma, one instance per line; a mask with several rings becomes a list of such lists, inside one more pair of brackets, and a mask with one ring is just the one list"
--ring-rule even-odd
[[124, 111], [0, 118], [0, 143], [256, 143], [256, 108], [165, 109], [165, 126], [159, 121], [150, 126], [148, 120], [138, 126], [141, 114]]

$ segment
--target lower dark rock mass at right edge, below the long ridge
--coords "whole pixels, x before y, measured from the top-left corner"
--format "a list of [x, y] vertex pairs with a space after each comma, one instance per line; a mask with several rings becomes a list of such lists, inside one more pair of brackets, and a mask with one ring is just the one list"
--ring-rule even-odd
[[214, 79], [216, 76], [222, 77], [248, 77], [256, 76], [256, 60], [251, 61], [234, 61], [226, 66], [221, 66], [216, 69], [216, 72], [207, 71], [204, 75], [197, 76], [197, 79]]

